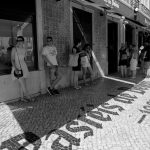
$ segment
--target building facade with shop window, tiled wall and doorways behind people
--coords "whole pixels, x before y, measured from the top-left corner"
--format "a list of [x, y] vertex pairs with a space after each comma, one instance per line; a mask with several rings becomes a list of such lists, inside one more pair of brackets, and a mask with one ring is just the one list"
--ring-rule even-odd
[[[20, 87], [10, 74], [10, 49], [18, 35], [25, 37], [28, 51], [28, 89], [37, 95], [46, 92], [48, 82], [41, 56], [46, 36], [53, 37], [58, 50], [63, 74], [59, 87], [63, 88], [70, 85], [68, 58], [76, 38], [82, 39], [82, 46], [87, 42], [92, 45], [91, 65], [98, 78], [118, 71], [121, 43], [139, 47], [149, 34], [149, 10], [141, 3], [131, 4], [130, 0], [35, 0], [32, 4], [15, 0], [11, 8], [7, 2], [0, 6], [0, 102], [20, 97]], [[138, 12], [134, 11], [135, 6]]]

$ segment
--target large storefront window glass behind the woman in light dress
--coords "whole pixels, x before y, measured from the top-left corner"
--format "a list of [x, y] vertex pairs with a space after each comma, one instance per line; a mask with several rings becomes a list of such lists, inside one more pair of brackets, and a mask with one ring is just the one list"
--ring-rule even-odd
[[19, 35], [25, 38], [28, 68], [30, 71], [35, 69], [32, 17], [28, 17], [25, 22], [0, 19], [0, 75], [11, 73], [11, 50]]

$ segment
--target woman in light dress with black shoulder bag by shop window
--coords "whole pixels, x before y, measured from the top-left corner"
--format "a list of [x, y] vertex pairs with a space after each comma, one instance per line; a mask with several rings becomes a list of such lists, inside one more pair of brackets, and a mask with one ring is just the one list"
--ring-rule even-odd
[[12, 49], [11, 62], [12, 62], [12, 79], [18, 80], [21, 90], [21, 101], [31, 101], [28, 90], [27, 90], [27, 78], [29, 75], [29, 70], [25, 62], [26, 49], [24, 47], [24, 37], [17, 37], [17, 44]]

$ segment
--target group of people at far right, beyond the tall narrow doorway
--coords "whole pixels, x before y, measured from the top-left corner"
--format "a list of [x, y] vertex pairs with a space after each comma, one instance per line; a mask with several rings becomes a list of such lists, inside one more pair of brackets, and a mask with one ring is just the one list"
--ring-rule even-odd
[[136, 78], [138, 67], [141, 68], [144, 76], [149, 76], [150, 44], [146, 42], [144, 46], [137, 49], [135, 45], [127, 46], [123, 43], [119, 50], [119, 67], [123, 78]]

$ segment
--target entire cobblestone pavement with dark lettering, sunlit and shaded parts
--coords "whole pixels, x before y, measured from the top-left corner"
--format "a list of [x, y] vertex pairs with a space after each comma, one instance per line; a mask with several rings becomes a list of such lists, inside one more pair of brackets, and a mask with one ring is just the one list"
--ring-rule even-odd
[[150, 150], [150, 79], [98, 79], [35, 102], [1, 103], [1, 150]]

